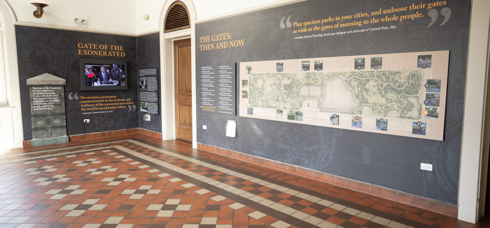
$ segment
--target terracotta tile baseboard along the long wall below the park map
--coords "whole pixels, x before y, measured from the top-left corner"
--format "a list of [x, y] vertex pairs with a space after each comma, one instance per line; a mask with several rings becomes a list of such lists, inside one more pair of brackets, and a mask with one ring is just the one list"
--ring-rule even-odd
[[332, 184], [341, 188], [346, 188], [352, 191], [361, 192], [371, 196], [392, 202], [403, 203], [409, 206], [417, 207], [423, 210], [432, 211], [438, 214], [447, 215], [449, 217], [458, 218], [458, 206], [450, 203], [444, 203], [429, 198], [420, 197], [406, 192], [393, 190], [390, 188], [381, 187], [374, 184], [369, 184], [345, 177], [339, 177], [292, 164], [270, 160], [242, 152], [236, 152], [219, 148], [203, 143], [197, 143], [197, 149], [220, 154], [226, 157], [235, 158], [241, 161], [252, 163], [254, 165], [270, 168], [281, 171], [298, 177], [304, 177], [312, 180], [317, 180], [323, 183]]

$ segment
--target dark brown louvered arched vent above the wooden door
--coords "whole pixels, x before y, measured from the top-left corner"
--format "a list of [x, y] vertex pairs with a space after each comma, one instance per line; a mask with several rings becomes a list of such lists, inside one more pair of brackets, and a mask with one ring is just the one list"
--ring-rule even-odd
[[175, 1], [169, 7], [167, 16], [165, 16], [164, 32], [173, 32], [191, 27], [189, 11], [182, 1]]

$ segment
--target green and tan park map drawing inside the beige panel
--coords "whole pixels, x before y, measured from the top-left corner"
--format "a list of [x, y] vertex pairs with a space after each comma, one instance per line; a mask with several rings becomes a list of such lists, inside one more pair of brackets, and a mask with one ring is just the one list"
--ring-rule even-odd
[[420, 119], [424, 69], [249, 74], [253, 107]]

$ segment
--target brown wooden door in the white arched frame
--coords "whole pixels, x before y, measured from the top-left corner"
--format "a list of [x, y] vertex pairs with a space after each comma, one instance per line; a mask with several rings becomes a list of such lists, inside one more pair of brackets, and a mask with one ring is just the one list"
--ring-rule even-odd
[[174, 47], [175, 138], [192, 142], [191, 39], [177, 40]]

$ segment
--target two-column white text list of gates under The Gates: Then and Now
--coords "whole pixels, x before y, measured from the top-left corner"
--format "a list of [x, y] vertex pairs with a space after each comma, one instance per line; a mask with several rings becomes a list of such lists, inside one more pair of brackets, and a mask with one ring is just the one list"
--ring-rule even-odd
[[235, 63], [201, 65], [201, 111], [236, 114], [235, 69]]

